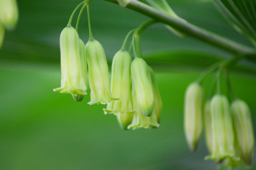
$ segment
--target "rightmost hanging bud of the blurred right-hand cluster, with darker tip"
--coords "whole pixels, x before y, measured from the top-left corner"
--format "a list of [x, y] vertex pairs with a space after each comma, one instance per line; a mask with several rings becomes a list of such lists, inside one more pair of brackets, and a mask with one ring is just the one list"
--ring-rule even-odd
[[250, 108], [244, 101], [236, 99], [231, 105], [231, 114], [239, 155], [244, 160], [244, 163], [250, 166], [254, 152], [254, 135]]

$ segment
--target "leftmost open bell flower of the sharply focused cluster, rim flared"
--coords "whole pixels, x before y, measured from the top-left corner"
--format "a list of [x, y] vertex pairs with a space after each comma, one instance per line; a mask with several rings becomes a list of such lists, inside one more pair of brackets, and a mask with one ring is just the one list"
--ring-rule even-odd
[[53, 91], [85, 95], [87, 87], [82, 74], [79, 53], [79, 36], [72, 26], [67, 26], [61, 32], [61, 87]]

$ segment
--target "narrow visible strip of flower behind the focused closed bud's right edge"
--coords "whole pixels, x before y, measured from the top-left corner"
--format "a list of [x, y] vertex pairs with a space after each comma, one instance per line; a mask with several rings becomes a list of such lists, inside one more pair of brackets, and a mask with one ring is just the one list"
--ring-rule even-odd
[[162, 100], [161, 100], [161, 96], [157, 87], [157, 79], [156, 76], [154, 74], [154, 71], [151, 67], [148, 67], [149, 71], [150, 71], [150, 76], [151, 76], [151, 81], [152, 81], [152, 85], [153, 85], [153, 92], [154, 92], [154, 109], [153, 109], [153, 113], [156, 114], [157, 116], [157, 122], [160, 123], [160, 116], [162, 113], [162, 108], [163, 108], [163, 104], [162, 104]]

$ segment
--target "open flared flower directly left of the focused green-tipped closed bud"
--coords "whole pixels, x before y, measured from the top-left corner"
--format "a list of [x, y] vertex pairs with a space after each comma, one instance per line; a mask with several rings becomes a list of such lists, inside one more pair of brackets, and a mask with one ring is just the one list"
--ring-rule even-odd
[[[126, 50], [119, 50], [112, 62], [111, 94], [120, 100], [108, 103], [105, 114], [134, 113], [131, 105], [131, 56]], [[120, 119], [122, 116], [119, 116]], [[123, 116], [128, 117], [128, 116]]]

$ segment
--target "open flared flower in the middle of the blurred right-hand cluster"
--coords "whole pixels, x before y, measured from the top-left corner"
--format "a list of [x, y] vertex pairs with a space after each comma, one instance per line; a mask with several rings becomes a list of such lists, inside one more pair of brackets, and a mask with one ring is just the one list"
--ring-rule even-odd
[[213, 148], [210, 159], [235, 160], [234, 132], [230, 104], [226, 96], [217, 94], [211, 102]]

